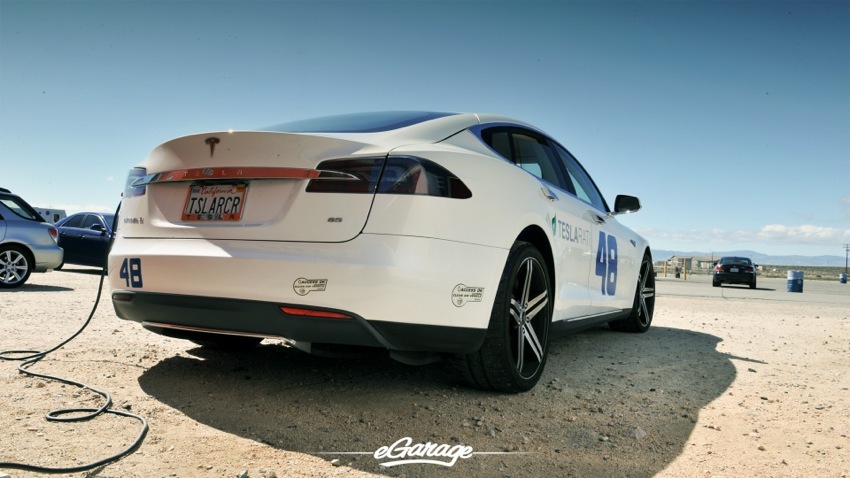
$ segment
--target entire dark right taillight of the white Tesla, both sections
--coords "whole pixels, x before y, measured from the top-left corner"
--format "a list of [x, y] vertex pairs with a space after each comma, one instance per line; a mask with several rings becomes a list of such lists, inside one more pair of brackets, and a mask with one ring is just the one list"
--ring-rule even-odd
[[311, 179], [311, 193], [374, 193], [467, 199], [472, 192], [457, 176], [427, 159], [412, 156], [324, 161]]

